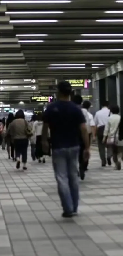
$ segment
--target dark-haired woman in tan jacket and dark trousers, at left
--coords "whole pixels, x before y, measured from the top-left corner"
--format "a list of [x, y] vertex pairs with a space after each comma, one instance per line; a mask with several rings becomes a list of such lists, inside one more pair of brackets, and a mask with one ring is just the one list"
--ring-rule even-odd
[[20, 156], [22, 155], [23, 170], [27, 170], [27, 148], [28, 148], [28, 131], [31, 130], [29, 124], [25, 120], [25, 115], [22, 110], [18, 110], [15, 115], [15, 120], [10, 123], [7, 134], [10, 134], [14, 141], [17, 164], [16, 168], [20, 169]]

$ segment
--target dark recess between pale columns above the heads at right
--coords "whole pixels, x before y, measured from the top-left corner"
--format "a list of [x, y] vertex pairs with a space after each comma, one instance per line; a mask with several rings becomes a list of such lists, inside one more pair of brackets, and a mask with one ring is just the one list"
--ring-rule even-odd
[[116, 76], [106, 77], [106, 99], [110, 105], [117, 105]]

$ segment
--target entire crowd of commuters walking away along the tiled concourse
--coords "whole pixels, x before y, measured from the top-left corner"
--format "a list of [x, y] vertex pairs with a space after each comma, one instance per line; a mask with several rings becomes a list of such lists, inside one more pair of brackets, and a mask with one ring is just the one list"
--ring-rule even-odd
[[0, 123], [0, 134], [2, 149], [7, 144], [8, 157], [16, 160], [17, 169], [20, 169], [22, 156], [23, 170], [27, 170], [29, 141], [32, 160], [38, 159], [39, 163], [45, 163], [45, 155], [51, 155], [52, 147], [52, 164], [63, 207], [62, 216], [69, 218], [77, 214], [79, 176], [84, 180], [88, 170], [91, 140], [95, 141], [97, 137], [102, 167], [107, 163], [111, 166], [113, 157], [115, 169], [121, 169], [123, 118], [119, 107], [109, 109], [107, 101], [93, 118], [89, 112], [89, 101], [82, 103], [80, 95], [70, 100], [72, 90], [67, 81], [60, 82], [57, 90], [58, 100], [50, 104], [43, 115], [33, 115], [28, 123], [22, 110], [15, 116], [9, 114], [7, 121], [4, 119]]

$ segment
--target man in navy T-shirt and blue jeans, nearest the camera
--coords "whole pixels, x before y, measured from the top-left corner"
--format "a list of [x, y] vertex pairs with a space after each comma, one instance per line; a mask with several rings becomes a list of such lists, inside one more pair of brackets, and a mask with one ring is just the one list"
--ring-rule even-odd
[[44, 113], [42, 146], [48, 151], [48, 128], [52, 145], [52, 163], [63, 207], [62, 217], [77, 214], [79, 201], [78, 156], [79, 131], [85, 143], [84, 156], [89, 158], [89, 137], [82, 111], [71, 101], [71, 85], [62, 81], [57, 86], [58, 101]]

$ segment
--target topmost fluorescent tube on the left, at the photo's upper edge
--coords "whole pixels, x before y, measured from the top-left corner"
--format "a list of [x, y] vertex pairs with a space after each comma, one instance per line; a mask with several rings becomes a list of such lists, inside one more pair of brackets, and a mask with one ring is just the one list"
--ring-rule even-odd
[[1, 0], [2, 4], [65, 4], [71, 3], [68, 0]]

